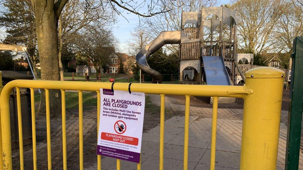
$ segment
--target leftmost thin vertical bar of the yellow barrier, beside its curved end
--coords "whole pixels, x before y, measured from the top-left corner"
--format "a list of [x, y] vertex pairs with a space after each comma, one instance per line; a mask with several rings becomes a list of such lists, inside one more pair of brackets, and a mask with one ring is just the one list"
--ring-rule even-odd
[[19, 131], [19, 150], [20, 150], [20, 169], [24, 169], [23, 163], [23, 135], [22, 135], [22, 116], [21, 116], [21, 97], [20, 88], [17, 90], [17, 112], [18, 112], [18, 131]]

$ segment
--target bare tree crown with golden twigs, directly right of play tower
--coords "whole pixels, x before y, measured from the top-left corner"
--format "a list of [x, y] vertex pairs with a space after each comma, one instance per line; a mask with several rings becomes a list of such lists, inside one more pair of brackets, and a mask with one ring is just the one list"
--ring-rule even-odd
[[274, 49], [274, 30], [287, 6], [285, 0], [238, 0], [232, 7], [238, 12], [239, 46], [255, 54]]

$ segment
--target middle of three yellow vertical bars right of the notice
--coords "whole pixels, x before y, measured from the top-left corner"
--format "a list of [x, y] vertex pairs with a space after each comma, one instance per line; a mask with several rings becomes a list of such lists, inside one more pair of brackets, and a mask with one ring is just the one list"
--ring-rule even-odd
[[188, 131], [189, 131], [189, 102], [190, 96], [185, 96], [185, 123], [184, 123], [184, 154], [183, 154], [183, 170], [188, 168]]

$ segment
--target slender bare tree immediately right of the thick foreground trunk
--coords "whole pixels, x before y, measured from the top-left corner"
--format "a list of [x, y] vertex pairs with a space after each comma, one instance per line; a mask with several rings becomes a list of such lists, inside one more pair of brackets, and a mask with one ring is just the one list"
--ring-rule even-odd
[[90, 1], [87, 7], [85, 0], [68, 1], [59, 17], [59, 70], [60, 80], [64, 80], [63, 65], [61, 62], [62, 47], [75, 42], [77, 36], [84, 36], [92, 33], [98, 27], [110, 24], [115, 21], [112, 10], [103, 10], [100, 8], [102, 2], [99, 0]]

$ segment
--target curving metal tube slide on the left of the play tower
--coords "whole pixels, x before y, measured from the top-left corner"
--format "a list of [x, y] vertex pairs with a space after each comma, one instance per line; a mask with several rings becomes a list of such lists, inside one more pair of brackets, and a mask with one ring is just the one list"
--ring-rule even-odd
[[137, 65], [142, 71], [152, 76], [152, 83], [162, 83], [162, 75], [150, 68], [146, 59], [165, 44], [180, 44], [180, 42], [181, 31], [162, 31], [156, 39], [139, 51], [136, 56]]

